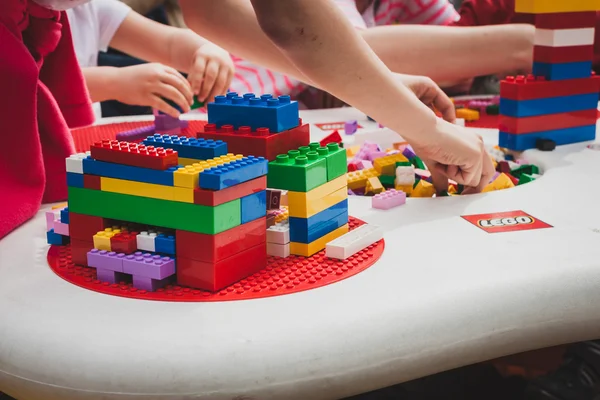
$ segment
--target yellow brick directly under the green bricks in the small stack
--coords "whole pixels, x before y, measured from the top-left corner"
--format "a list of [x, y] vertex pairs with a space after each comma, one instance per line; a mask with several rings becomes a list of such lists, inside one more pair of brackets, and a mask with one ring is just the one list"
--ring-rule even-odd
[[[340, 176], [308, 192], [288, 191], [289, 215], [308, 218], [346, 199], [347, 180], [346, 176]], [[340, 190], [344, 192], [343, 197]]]

